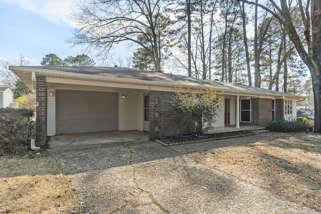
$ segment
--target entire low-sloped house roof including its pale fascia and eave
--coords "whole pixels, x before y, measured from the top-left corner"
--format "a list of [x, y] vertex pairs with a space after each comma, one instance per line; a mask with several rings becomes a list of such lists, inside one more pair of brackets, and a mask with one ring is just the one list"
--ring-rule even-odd
[[101, 82], [135, 83], [142, 85], [158, 85], [167, 87], [196, 87], [196, 88], [215, 88], [224, 92], [252, 93], [272, 96], [286, 96], [302, 98], [294, 94], [272, 91], [268, 89], [256, 88], [235, 83], [220, 82], [213, 80], [202, 80], [198, 78], [172, 75], [163, 72], [151, 72], [132, 68], [122, 67], [44, 67], [44, 66], [10, 66], [17, 76], [19, 76], [29, 87], [32, 86], [24, 76], [24, 72], [36, 72], [37, 75], [47, 77], [92, 80]]

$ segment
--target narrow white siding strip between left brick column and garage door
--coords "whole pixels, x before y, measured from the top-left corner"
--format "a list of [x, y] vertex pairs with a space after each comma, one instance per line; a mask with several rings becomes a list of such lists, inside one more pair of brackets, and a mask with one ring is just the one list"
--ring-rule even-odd
[[47, 135], [54, 136], [56, 134], [56, 96], [50, 97], [49, 91], [54, 91], [55, 89], [47, 89]]

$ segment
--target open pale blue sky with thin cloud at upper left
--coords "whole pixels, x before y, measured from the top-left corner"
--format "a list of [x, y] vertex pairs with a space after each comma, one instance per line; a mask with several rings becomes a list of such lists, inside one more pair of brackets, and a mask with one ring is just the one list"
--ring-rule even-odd
[[[0, 59], [14, 61], [19, 56], [38, 66], [46, 54], [61, 59], [83, 54], [85, 47], [66, 43], [72, 37], [73, 23], [67, 16], [80, 0], [0, 0]], [[118, 47], [117, 50], [125, 49]], [[130, 52], [125, 50], [123, 53]], [[115, 53], [115, 57], [117, 57]], [[120, 55], [120, 54], [119, 54]], [[96, 66], [106, 63], [88, 54]]]

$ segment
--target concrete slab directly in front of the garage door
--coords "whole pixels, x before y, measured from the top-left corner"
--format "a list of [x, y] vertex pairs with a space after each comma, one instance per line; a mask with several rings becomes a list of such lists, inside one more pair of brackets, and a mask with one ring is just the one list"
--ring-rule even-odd
[[131, 141], [148, 140], [148, 132], [142, 131], [102, 131], [75, 134], [63, 134], [50, 137], [49, 148], [94, 145], [104, 143], [123, 143]]

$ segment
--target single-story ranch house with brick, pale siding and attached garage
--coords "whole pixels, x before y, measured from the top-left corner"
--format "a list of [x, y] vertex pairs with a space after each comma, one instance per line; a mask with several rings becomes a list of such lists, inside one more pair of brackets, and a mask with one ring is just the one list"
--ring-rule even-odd
[[214, 89], [223, 99], [214, 127], [266, 127], [296, 119], [303, 97], [234, 83], [120, 67], [10, 66], [37, 93], [37, 145], [47, 136], [94, 131], [177, 132], [171, 101], [177, 88]]

